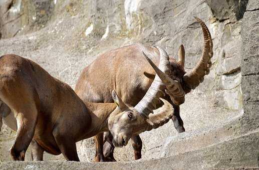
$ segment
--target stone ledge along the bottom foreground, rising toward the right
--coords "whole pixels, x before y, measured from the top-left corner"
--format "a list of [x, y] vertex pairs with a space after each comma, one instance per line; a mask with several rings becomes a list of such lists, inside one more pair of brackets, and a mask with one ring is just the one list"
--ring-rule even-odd
[[159, 159], [121, 162], [8, 161], [0, 169], [258, 169], [259, 129], [209, 147]]

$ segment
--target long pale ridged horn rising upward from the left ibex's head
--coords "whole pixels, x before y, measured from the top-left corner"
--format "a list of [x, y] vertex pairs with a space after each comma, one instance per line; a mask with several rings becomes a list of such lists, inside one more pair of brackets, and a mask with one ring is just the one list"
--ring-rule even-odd
[[[165, 50], [163, 50], [162, 48], [160, 48], [158, 46], [154, 46], [154, 47], [156, 47], [159, 50], [159, 53], [160, 53], [159, 69], [162, 72], [170, 70], [169, 56], [167, 55]], [[148, 58], [145, 55], [144, 52], [143, 52], [143, 54], [146, 58]], [[151, 86], [148, 88], [146, 94], [144, 95], [144, 97], [139, 101], [139, 103], [134, 108], [140, 114], [142, 114], [146, 118], [148, 118], [148, 115], [150, 113], [153, 113], [153, 109], [156, 109], [156, 104], [160, 103], [159, 97], [165, 95], [163, 90], [164, 90], [164, 84], [162, 83], [159, 76], [156, 75], [154, 81], [152, 82]]]

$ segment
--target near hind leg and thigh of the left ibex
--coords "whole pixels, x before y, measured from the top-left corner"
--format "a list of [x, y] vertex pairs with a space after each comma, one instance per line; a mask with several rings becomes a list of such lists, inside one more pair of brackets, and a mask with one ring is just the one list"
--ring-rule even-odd
[[38, 93], [25, 82], [10, 80], [5, 82], [4, 87], [0, 87], [0, 97], [14, 112], [18, 125], [15, 142], [9, 150], [14, 160], [25, 159], [25, 152], [34, 136], [38, 116]]

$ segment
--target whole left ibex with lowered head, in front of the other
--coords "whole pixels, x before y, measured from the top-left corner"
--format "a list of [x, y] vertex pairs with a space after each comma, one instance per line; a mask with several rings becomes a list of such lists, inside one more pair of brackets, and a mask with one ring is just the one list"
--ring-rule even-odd
[[[169, 58], [161, 48], [159, 53], [161, 70], [148, 61], [167, 82], [164, 72], [170, 69]], [[52, 77], [32, 60], [14, 54], [0, 57], [0, 122], [2, 126], [3, 118], [17, 130], [10, 149], [14, 160], [24, 160], [31, 143], [33, 160], [42, 160], [47, 151], [79, 161], [76, 142], [104, 131], [112, 133], [115, 146], [123, 146], [132, 135], [157, 128], [172, 117], [173, 109], [165, 100], [159, 113], [149, 114], [160, 102], [163, 90], [156, 75], [135, 107], [125, 104], [114, 90], [110, 92], [115, 103], [82, 101], [68, 84]]]

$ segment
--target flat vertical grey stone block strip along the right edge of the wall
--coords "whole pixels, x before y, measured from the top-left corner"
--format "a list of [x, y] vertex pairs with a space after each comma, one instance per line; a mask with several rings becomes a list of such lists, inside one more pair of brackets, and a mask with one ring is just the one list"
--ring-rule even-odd
[[242, 131], [259, 127], [259, 3], [250, 0], [242, 22]]

